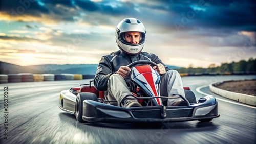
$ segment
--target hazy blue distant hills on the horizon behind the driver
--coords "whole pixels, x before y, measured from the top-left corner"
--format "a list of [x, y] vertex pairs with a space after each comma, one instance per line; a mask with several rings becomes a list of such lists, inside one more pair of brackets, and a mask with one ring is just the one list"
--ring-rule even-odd
[[[44, 64], [32, 66], [19, 66], [6, 62], [0, 62], [0, 74], [18, 74], [18, 73], [32, 73], [32, 74], [86, 74], [94, 75], [98, 64]], [[179, 69], [177, 66], [169, 66], [171, 69]]]

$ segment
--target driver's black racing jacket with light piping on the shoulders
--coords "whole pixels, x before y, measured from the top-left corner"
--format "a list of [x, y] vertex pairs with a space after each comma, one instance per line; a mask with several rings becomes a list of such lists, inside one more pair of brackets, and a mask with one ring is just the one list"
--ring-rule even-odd
[[[161, 63], [164, 65], [155, 54], [140, 52], [137, 55], [129, 55], [119, 50], [101, 58], [94, 78], [95, 88], [99, 91], [106, 91], [108, 88], [107, 84], [109, 77], [112, 74], [115, 74], [120, 66], [126, 66], [139, 60], [148, 60], [153, 61], [156, 64]], [[170, 68], [166, 67], [165, 65], [164, 67], [166, 72], [170, 70]]]

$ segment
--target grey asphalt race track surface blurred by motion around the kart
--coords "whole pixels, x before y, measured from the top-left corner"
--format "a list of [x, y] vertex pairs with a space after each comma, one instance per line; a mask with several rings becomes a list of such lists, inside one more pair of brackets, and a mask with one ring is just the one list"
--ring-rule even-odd
[[[182, 77], [183, 85], [194, 91], [197, 100], [204, 94], [196, 89], [204, 85], [200, 91], [219, 98], [221, 116], [210, 122], [151, 125], [79, 123], [74, 115], [61, 111], [58, 108], [60, 91], [89, 80], [0, 84], [0, 143], [256, 143], [256, 108], [237, 105], [238, 102], [211, 93], [207, 87], [216, 81], [253, 78], [256, 76]], [[8, 87], [7, 111], [4, 87]]]

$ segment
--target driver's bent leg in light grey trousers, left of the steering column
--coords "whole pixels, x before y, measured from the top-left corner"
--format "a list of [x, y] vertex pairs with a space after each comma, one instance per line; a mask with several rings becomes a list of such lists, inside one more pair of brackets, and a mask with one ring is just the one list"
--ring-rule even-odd
[[[129, 90], [125, 80], [121, 75], [113, 74], [108, 80], [108, 99], [110, 101], [116, 100], [117, 105], [123, 107], [121, 104], [123, 98], [126, 95], [131, 95], [132, 93]], [[128, 97], [127, 97], [128, 98]], [[129, 97], [134, 98], [134, 97]]]

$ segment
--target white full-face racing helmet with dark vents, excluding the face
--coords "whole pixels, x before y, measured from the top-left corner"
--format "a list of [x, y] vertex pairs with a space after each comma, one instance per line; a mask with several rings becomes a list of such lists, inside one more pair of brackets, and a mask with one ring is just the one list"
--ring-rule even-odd
[[[132, 44], [125, 40], [125, 32], [140, 32], [140, 42]], [[143, 49], [146, 30], [142, 22], [136, 18], [125, 18], [118, 23], [116, 28], [116, 43], [120, 50], [127, 54], [136, 55]]]

